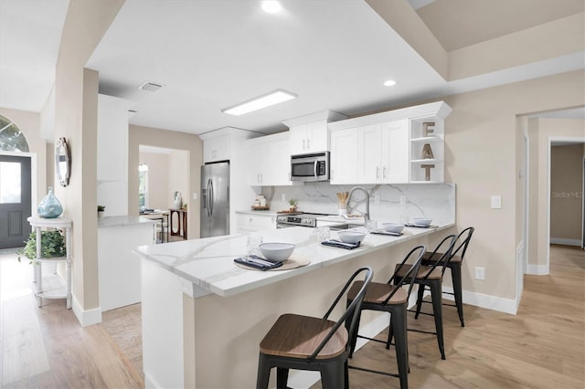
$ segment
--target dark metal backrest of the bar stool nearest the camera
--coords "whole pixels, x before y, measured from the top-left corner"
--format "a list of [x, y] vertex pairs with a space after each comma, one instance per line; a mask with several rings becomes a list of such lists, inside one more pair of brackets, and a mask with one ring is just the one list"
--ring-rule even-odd
[[[350, 334], [354, 333], [354, 328], [356, 327], [356, 322], [357, 322], [357, 316], [359, 315], [359, 311], [360, 311], [362, 302], [364, 301], [364, 296], [366, 296], [367, 286], [369, 285], [369, 283], [372, 280], [372, 277], [374, 276], [374, 270], [372, 270], [372, 268], [370, 268], [369, 266], [366, 266], [363, 268], [358, 268], [356, 270], [356, 272], [351, 276], [351, 278], [347, 280], [346, 285], [341, 290], [341, 292], [339, 292], [339, 294], [337, 295], [337, 298], [335, 299], [333, 304], [331, 304], [331, 307], [329, 307], [329, 310], [327, 310], [327, 312], [324, 314], [324, 317], [323, 317], [324, 320], [328, 320], [329, 315], [335, 309], [335, 306], [337, 305], [339, 300], [341, 300], [341, 298], [346, 294], [347, 289], [354, 282], [354, 279], [356, 279], [356, 277], [359, 275], [359, 273], [365, 273], [364, 284], [362, 285], [362, 288], [359, 289], [359, 292], [357, 293], [356, 298], [351, 302], [351, 304], [349, 304], [349, 306], [346, 308], [346, 311], [344, 312], [344, 314], [341, 315], [341, 318], [339, 318], [339, 320], [335, 322], [335, 325], [333, 327], [331, 327], [331, 329], [329, 330], [327, 335], [324, 337], [323, 341], [321, 343], [319, 343], [319, 345], [314, 349], [314, 352], [307, 358], [309, 361], [313, 361], [316, 358], [316, 356], [319, 354], [319, 352], [321, 352], [321, 350], [324, 348], [324, 345], [327, 342], [329, 342], [329, 340], [333, 337], [333, 335], [335, 334], [335, 331], [337, 331], [339, 329], [339, 327], [344, 325], [346, 320], [349, 319], [351, 321], [351, 325], [350, 325], [349, 331], [347, 333], [350, 333]], [[351, 347], [351, 342], [346, 342], [346, 352], [347, 353], [349, 353], [350, 347]]]

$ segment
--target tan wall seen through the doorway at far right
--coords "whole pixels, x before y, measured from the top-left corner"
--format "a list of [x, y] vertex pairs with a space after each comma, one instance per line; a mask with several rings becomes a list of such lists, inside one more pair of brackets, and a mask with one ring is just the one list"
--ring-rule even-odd
[[[585, 131], [585, 130], [584, 130]], [[584, 135], [585, 136], [585, 135]], [[581, 240], [583, 146], [550, 150], [550, 237]]]

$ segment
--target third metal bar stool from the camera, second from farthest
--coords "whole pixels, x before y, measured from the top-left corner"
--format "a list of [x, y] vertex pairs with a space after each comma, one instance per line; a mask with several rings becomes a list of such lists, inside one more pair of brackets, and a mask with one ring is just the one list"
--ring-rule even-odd
[[[439, 351], [441, 352], [441, 359], [443, 360], [445, 359], [445, 346], [442, 337], [441, 285], [442, 275], [444, 274], [445, 268], [447, 268], [447, 263], [451, 258], [451, 253], [453, 246], [455, 245], [455, 240], [456, 238], [454, 235], [444, 237], [441, 240], [441, 243], [432, 252], [433, 257], [437, 258], [437, 260], [431, 266], [420, 266], [419, 271], [416, 273], [416, 276], [414, 278], [414, 283], [419, 285], [417, 310], [415, 310], [416, 312], [420, 312], [420, 304], [422, 303], [424, 290], [427, 287], [431, 289], [432, 313], [429, 313], [429, 315], [434, 316], [435, 332], [414, 329], [409, 329], [409, 331], [431, 333], [433, 335], [436, 335], [437, 342], [439, 343]], [[439, 250], [441, 249], [444, 249], [444, 253], [441, 256], [438, 255], [434, 256], [434, 254], [438, 253]], [[405, 265], [401, 268], [399, 268], [399, 266], [397, 265], [396, 268], [397, 278], [394, 279], [394, 282], [397, 283], [399, 278], [406, 276], [409, 269], [410, 269], [409, 265]], [[410, 279], [407, 278], [407, 282], [410, 282]], [[419, 318], [418, 314], [415, 315], [414, 318], [418, 319]]]

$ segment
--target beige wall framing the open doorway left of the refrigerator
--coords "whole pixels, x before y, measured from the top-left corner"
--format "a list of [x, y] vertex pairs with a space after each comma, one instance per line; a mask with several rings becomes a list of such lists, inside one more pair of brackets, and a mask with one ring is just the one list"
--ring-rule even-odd
[[[133, 172], [138, 172], [139, 146], [141, 144], [186, 152], [186, 159], [181, 164], [186, 167], [186, 190], [182, 195], [183, 202], [188, 205], [187, 232], [189, 238], [199, 237], [199, 199], [197, 198], [197, 201], [191, 200], [191, 196], [187, 194], [200, 192], [199, 166], [203, 163], [203, 142], [194, 134], [131, 124], [128, 136], [129, 194], [138, 193], [138, 174]], [[172, 188], [171, 190], [175, 191]], [[138, 215], [138, 195], [129, 195], [128, 210], [130, 215]]]

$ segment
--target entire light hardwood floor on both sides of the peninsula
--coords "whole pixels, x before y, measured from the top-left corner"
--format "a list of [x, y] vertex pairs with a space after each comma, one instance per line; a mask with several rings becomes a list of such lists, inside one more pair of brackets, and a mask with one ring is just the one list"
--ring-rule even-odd
[[[140, 305], [81, 328], [63, 300], [37, 309], [27, 267], [0, 252], [1, 386], [143, 387]], [[434, 335], [409, 332], [410, 387], [585, 387], [585, 251], [552, 246], [550, 271], [525, 277], [517, 315], [465, 305], [462, 328], [455, 309], [444, 307], [446, 361]], [[409, 325], [431, 329], [432, 318], [410, 317]], [[396, 372], [394, 350], [378, 343], [350, 364]], [[350, 387], [398, 388], [399, 380], [351, 370]]]

